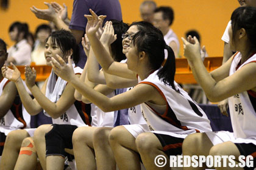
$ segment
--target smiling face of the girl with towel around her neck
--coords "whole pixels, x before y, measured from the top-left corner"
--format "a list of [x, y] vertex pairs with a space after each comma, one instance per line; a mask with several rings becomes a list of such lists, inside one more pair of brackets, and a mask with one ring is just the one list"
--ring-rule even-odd
[[50, 36], [48, 38], [48, 41], [45, 44], [45, 49], [44, 49], [44, 57], [46, 60], [46, 64], [48, 66], [51, 66], [50, 62], [52, 61], [52, 57], [56, 58], [56, 55], [59, 55], [60, 57], [62, 57], [63, 60], [65, 60], [65, 62], [66, 62], [66, 58], [64, 57], [62, 50], [57, 45], [57, 43], [52, 44], [52, 38]]

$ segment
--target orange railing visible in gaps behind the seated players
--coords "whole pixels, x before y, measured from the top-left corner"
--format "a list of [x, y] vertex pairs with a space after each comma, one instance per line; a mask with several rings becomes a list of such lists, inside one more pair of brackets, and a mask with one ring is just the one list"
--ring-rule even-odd
[[[222, 56], [209, 56], [205, 58], [204, 65], [208, 72], [217, 69], [222, 64]], [[51, 66], [37, 66], [32, 65], [37, 71], [36, 81], [44, 81], [49, 77], [51, 73]], [[17, 66], [17, 68], [21, 72], [21, 78], [25, 79], [24, 75], [24, 66]], [[194, 80], [193, 73], [188, 65], [188, 61], [186, 58], [177, 58], [176, 59], [176, 75], [175, 81], [181, 84], [196, 84], [196, 80]]]

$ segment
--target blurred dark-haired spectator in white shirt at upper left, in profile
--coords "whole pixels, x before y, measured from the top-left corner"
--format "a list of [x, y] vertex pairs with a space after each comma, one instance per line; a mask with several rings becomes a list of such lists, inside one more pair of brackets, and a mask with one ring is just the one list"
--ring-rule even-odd
[[15, 65], [29, 65], [31, 62], [30, 53], [32, 47], [27, 42], [27, 35], [29, 34], [29, 27], [26, 23], [14, 22], [10, 25], [9, 35], [15, 45], [8, 49], [9, 57], [6, 63], [13, 63]]

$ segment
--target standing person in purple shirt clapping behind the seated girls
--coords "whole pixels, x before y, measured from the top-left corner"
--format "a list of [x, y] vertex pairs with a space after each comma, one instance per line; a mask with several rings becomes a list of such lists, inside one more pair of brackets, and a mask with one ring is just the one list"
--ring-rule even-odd
[[85, 26], [87, 25], [87, 19], [84, 17], [84, 15], [90, 14], [89, 9], [92, 9], [98, 16], [107, 15], [105, 21], [110, 19], [116, 19], [118, 21], [122, 20], [121, 5], [119, 0], [74, 0], [73, 13], [68, 26], [61, 17], [63, 14], [55, 11], [56, 8], [53, 3], [49, 4], [44, 2], [44, 4], [48, 5], [49, 8], [40, 10], [33, 7], [30, 8], [30, 10], [35, 13], [37, 18], [54, 22], [57, 29], [70, 30], [74, 34], [76, 42], [79, 44], [80, 60], [79, 63], [77, 63], [77, 66], [81, 68], [84, 68], [85, 62], [87, 61], [87, 56], [85, 55], [81, 41], [82, 36], [85, 34]]

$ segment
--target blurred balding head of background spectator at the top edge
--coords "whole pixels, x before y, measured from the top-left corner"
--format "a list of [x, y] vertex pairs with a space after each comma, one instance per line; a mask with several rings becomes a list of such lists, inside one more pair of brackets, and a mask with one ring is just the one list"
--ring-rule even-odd
[[155, 4], [154, 1], [143, 1], [140, 5], [141, 19], [152, 24], [154, 19], [154, 11], [156, 8], [157, 4]]

